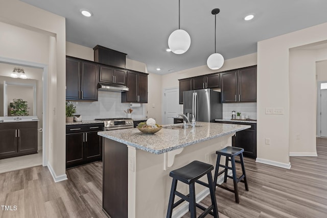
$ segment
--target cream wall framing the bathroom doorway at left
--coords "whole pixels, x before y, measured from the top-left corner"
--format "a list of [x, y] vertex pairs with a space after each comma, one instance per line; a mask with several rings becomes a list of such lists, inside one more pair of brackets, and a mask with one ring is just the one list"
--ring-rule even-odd
[[[62, 137], [65, 135], [65, 18], [18, 0], [0, 0], [0, 5], [0, 22], [7, 26], [1, 29], [0, 56], [49, 66], [46, 105], [51, 108], [45, 118], [45, 143], [49, 146], [48, 166], [56, 181], [63, 180], [66, 178], [65, 138]], [[8, 24], [32, 33], [16, 34]]]

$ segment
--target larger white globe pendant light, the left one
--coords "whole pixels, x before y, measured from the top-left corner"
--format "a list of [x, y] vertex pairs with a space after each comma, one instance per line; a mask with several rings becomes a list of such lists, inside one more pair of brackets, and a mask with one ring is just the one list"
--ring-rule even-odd
[[180, 29], [180, 0], [178, 0], [178, 30], [172, 32], [168, 38], [169, 49], [175, 54], [183, 54], [189, 50], [191, 37], [185, 30]]

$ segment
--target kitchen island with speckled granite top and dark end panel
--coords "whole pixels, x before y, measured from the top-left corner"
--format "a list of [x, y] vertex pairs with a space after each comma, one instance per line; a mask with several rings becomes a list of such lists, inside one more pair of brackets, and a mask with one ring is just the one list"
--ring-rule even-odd
[[[230, 146], [233, 134], [250, 128], [202, 122], [197, 125], [201, 127], [162, 128], [152, 135], [136, 128], [99, 132], [104, 137], [103, 210], [112, 218], [165, 217], [170, 171], [193, 160], [215, 165], [216, 151]], [[177, 190], [188, 193], [188, 186], [178, 183]], [[208, 193], [208, 188], [196, 186], [197, 202]], [[186, 203], [181, 204], [173, 216], [187, 211]]]

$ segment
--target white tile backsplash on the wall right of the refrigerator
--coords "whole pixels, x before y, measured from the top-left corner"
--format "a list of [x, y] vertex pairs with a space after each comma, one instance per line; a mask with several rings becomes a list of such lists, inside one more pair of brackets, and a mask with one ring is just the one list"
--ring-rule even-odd
[[241, 112], [241, 115], [248, 115], [250, 119], [256, 119], [256, 102], [251, 103], [224, 103], [223, 118], [230, 119], [231, 111]]

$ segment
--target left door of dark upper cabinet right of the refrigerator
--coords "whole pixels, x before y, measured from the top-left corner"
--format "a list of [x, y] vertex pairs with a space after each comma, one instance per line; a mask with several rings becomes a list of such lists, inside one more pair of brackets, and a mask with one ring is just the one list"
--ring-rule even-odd
[[220, 74], [221, 102], [237, 102], [237, 71]]

